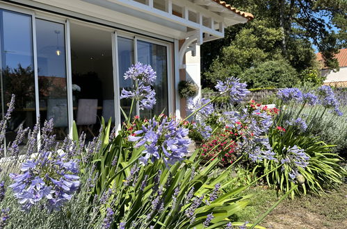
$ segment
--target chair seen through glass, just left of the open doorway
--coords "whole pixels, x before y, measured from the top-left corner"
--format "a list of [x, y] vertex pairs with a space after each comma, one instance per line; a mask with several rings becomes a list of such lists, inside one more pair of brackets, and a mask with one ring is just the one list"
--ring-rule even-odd
[[69, 126], [66, 99], [47, 99], [47, 120], [49, 119], [53, 119], [54, 127], [66, 137], [64, 128]]

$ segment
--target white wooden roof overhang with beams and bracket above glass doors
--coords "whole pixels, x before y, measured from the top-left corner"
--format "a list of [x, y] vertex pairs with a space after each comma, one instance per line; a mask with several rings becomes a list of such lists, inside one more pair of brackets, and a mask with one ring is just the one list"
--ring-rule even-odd
[[[67, 15], [86, 15], [120, 28], [136, 28], [161, 37], [185, 40], [179, 50], [181, 67], [184, 53], [196, 44], [224, 37], [227, 26], [243, 24], [253, 15], [232, 8], [220, 0], [12, 0]], [[129, 29], [131, 30], [131, 29]]]

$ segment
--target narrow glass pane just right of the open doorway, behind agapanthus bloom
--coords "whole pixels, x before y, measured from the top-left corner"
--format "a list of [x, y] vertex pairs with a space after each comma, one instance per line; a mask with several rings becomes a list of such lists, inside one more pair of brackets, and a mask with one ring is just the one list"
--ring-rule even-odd
[[[119, 77], [120, 77], [120, 92], [122, 89], [131, 90], [131, 80], [124, 80], [124, 73], [128, 71], [129, 67], [134, 64], [134, 40], [127, 39], [124, 37], [118, 37], [118, 68], [119, 68]], [[131, 100], [130, 99], [121, 99], [120, 105], [124, 112], [129, 115]], [[134, 105], [132, 117], [136, 115], [136, 107]], [[121, 113], [121, 120], [124, 121], [124, 116]]]

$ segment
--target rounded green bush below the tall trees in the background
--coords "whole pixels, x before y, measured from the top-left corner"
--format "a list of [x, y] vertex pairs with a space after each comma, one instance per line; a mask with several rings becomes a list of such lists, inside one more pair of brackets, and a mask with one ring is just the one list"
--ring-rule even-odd
[[240, 75], [248, 87], [292, 87], [298, 83], [296, 70], [285, 60], [269, 60]]

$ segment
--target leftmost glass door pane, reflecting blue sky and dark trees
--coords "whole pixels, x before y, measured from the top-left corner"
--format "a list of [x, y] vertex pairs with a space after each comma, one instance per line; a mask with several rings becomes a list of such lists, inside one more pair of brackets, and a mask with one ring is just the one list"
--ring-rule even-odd
[[6, 130], [12, 142], [19, 126], [35, 124], [35, 78], [33, 71], [33, 34], [30, 15], [0, 10], [1, 111], [7, 110], [15, 94], [15, 111]]

